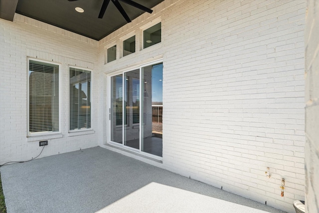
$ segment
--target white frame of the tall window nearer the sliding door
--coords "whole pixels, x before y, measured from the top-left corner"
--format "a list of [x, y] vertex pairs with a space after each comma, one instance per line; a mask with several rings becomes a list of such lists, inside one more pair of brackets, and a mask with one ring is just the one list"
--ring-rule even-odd
[[[80, 70], [85, 70], [89, 71], [91, 73], [91, 82], [90, 82], [90, 111], [91, 111], [91, 127], [87, 129], [77, 129], [77, 130], [70, 130], [70, 68], [74, 69], [80, 69]], [[90, 131], [93, 130], [93, 101], [92, 101], [92, 79], [93, 79], [93, 70], [92, 69], [87, 69], [87, 68], [82, 68], [82, 67], [77, 67], [77, 66], [68, 66], [68, 132], [69, 133], [75, 133], [75, 132], [84, 132], [84, 131]]]

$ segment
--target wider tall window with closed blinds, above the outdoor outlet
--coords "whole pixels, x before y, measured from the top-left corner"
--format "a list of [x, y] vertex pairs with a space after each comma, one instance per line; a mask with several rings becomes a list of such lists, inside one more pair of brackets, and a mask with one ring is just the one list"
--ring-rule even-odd
[[59, 65], [28, 60], [28, 135], [59, 129]]

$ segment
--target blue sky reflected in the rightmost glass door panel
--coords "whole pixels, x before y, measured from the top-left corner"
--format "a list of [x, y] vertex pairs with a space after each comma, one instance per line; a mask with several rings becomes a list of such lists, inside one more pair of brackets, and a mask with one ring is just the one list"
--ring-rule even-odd
[[152, 67], [152, 102], [163, 101], [163, 64]]

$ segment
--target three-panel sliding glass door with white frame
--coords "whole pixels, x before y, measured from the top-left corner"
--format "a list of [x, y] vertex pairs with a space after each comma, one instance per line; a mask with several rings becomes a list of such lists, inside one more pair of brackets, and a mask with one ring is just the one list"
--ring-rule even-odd
[[162, 157], [162, 63], [111, 76], [110, 142]]

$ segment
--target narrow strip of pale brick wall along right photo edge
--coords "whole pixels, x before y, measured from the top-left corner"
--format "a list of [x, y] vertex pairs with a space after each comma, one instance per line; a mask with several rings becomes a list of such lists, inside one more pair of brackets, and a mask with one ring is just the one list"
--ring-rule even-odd
[[319, 2], [306, 12], [306, 211], [319, 212]]

